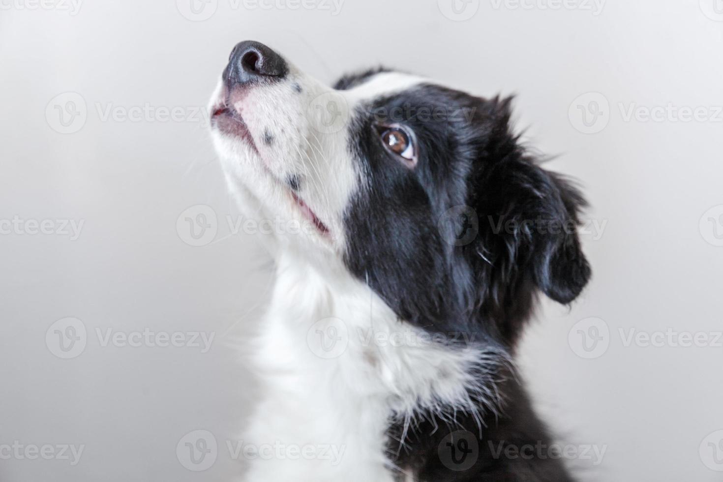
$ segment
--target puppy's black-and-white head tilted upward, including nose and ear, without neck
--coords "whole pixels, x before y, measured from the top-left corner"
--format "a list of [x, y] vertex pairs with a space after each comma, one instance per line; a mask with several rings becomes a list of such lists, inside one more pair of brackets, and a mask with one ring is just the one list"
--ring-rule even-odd
[[247, 41], [211, 114], [231, 190], [285, 223], [281, 249], [338, 264], [400, 319], [512, 345], [536, 293], [567, 304], [589, 279], [583, 198], [521, 147], [510, 99], [385, 69], [331, 88]]

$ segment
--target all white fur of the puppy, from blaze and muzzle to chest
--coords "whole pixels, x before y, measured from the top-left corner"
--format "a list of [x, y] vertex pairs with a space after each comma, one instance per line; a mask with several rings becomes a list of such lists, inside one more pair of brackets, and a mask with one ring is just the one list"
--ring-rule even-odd
[[[302, 94], [294, 92], [294, 82]], [[497, 356], [487, 361], [479, 349], [429, 343], [427, 332], [399, 321], [341, 261], [343, 211], [363, 183], [347, 145], [351, 116], [330, 132], [317, 116], [323, 111], [308, 106], [320, 96], [337, 96], [332, 98], [353, 112], [363, 100], [418, 82], [403, 74], [378, 74], [356, 89], [335, 92], [291, 67], [287, 79], [254, 87], [239, 102], [260, 155], [244, 141], [213, 132], [228, 186], [247, 215], [300, 220], [281, 180], [301, 171], [308, 176], [301, 197], [333, 234], [328, 239], [318, 233], [271, 236], [277, 280], [262, 334], [252, 340], [264, 393], [244, 441], [302, 449], [323, 445], [341, 456], [254, 458], [248, 481], [393, 481], [385, 455], [390, 418], [414, 423], [416, 410], [442, 405], [476, 410], [468, 390], [492, 398], [476, 377]], [[260, 142], [268, 126], [275, 131], [272, 147]], [[330, 344], [333, 338], [341, 345]]]

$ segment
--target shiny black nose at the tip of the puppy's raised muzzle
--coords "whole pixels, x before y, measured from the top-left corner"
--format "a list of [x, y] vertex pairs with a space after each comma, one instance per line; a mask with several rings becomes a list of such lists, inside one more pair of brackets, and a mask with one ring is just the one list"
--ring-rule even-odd
[[223, 71], [228, 85], [249, 84], [283, 79], [288, 72], [286, 61], [263, 43], [246, 40], [234, 47]]

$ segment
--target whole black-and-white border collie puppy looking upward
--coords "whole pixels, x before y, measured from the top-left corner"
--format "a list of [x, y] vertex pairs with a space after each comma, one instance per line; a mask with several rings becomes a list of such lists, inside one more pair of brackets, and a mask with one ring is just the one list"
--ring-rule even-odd
[[[213, 141], [273, 220], [248, 481], [571, 481], [515, 376], [538, 293], [590, 277], [581, 194], [510, 126], [510, 99], [374, 69], [327, 87], [261, 43], [231, 52]], [[264, 447], [273, 447], [264, 454]]]

